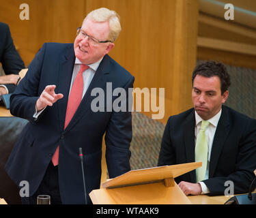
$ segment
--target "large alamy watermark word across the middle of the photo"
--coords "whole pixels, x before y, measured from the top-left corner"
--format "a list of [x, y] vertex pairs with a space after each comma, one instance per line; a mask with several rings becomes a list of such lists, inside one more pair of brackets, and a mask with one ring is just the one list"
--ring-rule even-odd
[[[158, 93], [157, 93], [158, 92]], [[96, 87], [91, 90], [93, 112], [155, 112], [152, 119], [162, 119], [165, 116], [165, 88], [128, 88], [113, 89], [112, 82], [106, 82], [104, 89]], [[114, 99], [114, 100], [113, 100]], [[157, 101], [158, 99], [158, 101]], [[142, 102], [144, 102], [142, 107]], [[134, 107], [135, 105], [135, 107]]]

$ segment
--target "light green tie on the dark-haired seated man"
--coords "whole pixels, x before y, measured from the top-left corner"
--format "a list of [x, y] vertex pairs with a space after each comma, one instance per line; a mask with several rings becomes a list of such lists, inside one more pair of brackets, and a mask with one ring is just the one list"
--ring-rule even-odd
[[205, 136], [205, 129], [208, 125], [209, 121], [201, 122], [201, 128], [197, 135], [197, 143], [195, 145], [195, 161], [202, 162], [202, 166], [196, 169], [197, 182], [203, 181], [205, 178], [208, 161], [208, 144]]

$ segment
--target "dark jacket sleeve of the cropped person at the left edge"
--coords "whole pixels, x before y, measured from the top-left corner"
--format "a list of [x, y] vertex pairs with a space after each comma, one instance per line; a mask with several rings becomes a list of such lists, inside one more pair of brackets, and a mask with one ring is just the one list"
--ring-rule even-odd
[[[0, 22], [0, 62], [6, 75], [18, 74], [20, 69], [25, 68], [12, 41], [10, 29], [3, 22]], [[8, 88], [9, 93], [12, 93], [16, 88], [14, 84], [5, 84], [5, 87]]]

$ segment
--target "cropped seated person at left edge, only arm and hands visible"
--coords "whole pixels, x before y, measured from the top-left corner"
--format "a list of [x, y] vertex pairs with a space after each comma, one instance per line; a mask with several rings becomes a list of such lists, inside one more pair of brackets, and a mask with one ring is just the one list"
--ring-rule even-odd
[[25, 68], [18, 55], [8, 25], [0, 22], [0, 62], [6, 76], [0, 76], [0, 95], [13, 93], [20, 80], [18, 72]]

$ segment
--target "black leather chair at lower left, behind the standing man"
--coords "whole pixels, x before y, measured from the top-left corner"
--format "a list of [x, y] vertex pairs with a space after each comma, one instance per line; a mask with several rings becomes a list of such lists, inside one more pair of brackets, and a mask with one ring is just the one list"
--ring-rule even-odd
[[19, 189], [5, 172], [5, 163], [27, 122], [18, 117], [0, 117], [0, 198], [8, 204], [21, 204]]

